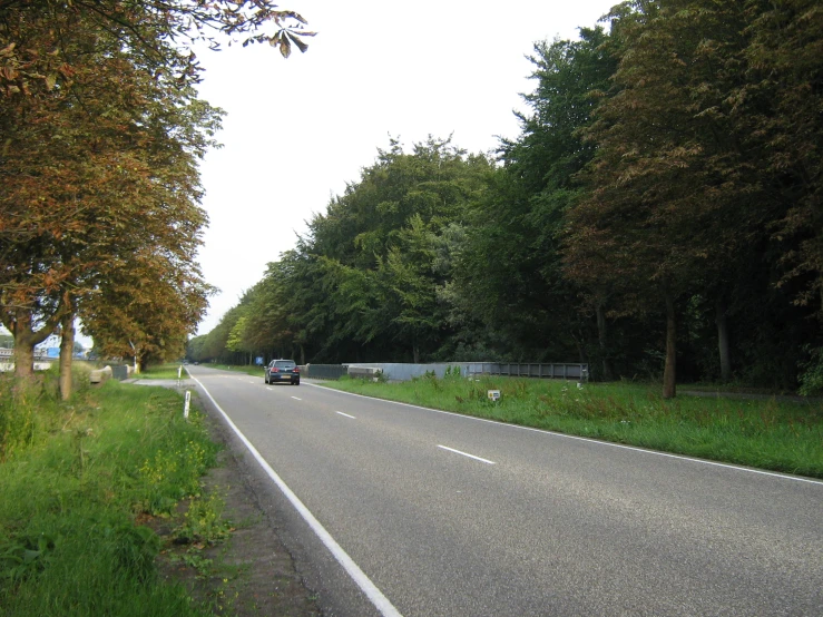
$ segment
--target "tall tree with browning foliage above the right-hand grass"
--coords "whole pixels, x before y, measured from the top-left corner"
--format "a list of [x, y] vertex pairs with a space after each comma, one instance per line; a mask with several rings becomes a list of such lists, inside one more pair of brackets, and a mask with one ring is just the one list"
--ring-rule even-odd
[[568, 214], [566, 263], [589, 285], [616, 285], [626, 313], [665, 307], [664, 396], [675, 395], [680, 297], [715, 296], [728, 374], [724, 292], [783, 207], [763, 174], [758, 109], [771, 104], [749, 79], [753, 25], [768, 10], [667, 0], [613, 13], [620, 65], [586, 131], [598, 154], [591, 193]]

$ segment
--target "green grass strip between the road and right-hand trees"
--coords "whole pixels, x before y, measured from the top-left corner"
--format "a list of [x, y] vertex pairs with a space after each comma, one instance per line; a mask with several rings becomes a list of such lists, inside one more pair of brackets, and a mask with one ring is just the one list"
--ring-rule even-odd
[[[664, 400], [659, 385], [459, 375], [402, 383], [342, 379], [325, 385], [677, 454], [823, 478], [823, 405], [767, 400]], [[488, 399], [499, 390], [500, 400]]]

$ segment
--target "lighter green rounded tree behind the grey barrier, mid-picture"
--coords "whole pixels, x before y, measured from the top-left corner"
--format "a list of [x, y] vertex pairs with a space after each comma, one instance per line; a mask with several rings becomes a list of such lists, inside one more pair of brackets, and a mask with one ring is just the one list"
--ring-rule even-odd
[[[482, 190], [489, 169], [482, 156], [466, 156], [450, 140], [429, 138], [404, 154], [396, 140], [380, 150], [361, 180], [313, 221], [316, 254], [331, 295], [331, 341], [355, 355], [419, 360], [449, 336], [448, 307], [437, 290], [451, 273], [434, 267], [433, 246], [461, 221]], [[406, 355], [408, 354], [408, 355]]]

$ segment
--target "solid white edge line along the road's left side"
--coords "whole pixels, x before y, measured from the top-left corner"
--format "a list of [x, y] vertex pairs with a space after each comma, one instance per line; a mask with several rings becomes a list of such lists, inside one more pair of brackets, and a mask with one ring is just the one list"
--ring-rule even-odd
[[223, 418], [225, 419], [226, 423], [232, 428], [232, 430], [235, 432], [235, 434], [243, 441], [243, 443], [246, 444], [246, 448], [248, 448], [248, 451], [252, 453], [252, 456], [257, 460], [259, 466], [263, 468], [263, 470], [268, 474], [268, 477], [274, 481], [275, 484], [280, 488], [280, 490], [283, 492], [283, 494], [286, 496], [288, 501], [292, 502], [292, 506], [294, 506], [294, 509], [300, 512], [300, 516], [303, 517], [303, 520], [305, 520], [308, 523], [308, 527], [312, 528], [312, 531], [320, 538], [320, 540], [323, 542], [323, 545], [329, 549], [329, 551], [334, 556], [334, 558], [337, 560], [337, 562], [343, 566], [343, 569], [349, 574], [350, 577], [352, 577], [352, 580], [360, 587], [360, 589], [365, 594], [365, 596], [369, 598], [369, 600], [374, 605], [374, 607], [380, 611], [381, 615], [385, 617], [402, 617], [401, 613], [394, 608], [391, 601], [389, 601], [389, 598], [386, 598], [383, 592], [378, 589], [378, 587], [371, 581], [371, 579], [365, 575], [363, 570], [360, 569], [360, 566], [357, 566], [354, 560], [349, 557], [349, 554], [346, 554], [345, 550], [335, 541], [334, 538], [332, 538], [331, 533], [325, 530], [325, 528], [320, 523], [320, 521], [314, 518], [314, 515], [311, 512], [308, 508], [306, 508], [303, 502], [300, 500], [300, 498], [294, 494], [292, 489], [288, 488], [288, 486], [283, 481], [283, 479], [277, 476], [277, 473], [272, 469], [272, 467], [266, 462], [266, 460], [261, 456], [261, 453], [257, 451], [257, 449], [252, 445], [252, 442], [246, 439], [246, 435], [244, 435], [241, 430], [237, 428], [237, 425], [232, 421], [232, 419], [228, 417], [228, 414], [223, 411], [223, 408], [217, 404], [217, 401], [214, 400], [214, 396], [212, 396], [212, 393], [206, 389], [205, 385], [195, 376], [193, 376], [189, 373], [189, 376], [197, 382], [197, 384], [203, 389], [203, 391], [206, 393], [206, 396], [212, 401], [212, 404], [217, 409], [217, 411], [221, 412]]

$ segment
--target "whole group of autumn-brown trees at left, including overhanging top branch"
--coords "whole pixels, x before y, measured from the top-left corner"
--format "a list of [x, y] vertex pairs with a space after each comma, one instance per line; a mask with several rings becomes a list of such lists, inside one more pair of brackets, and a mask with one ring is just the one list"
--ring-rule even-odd
[[[0, 2], [0, 320], [16, 374], [55, 332], [68, 396], [75, 321], [109, 355], [179, 356], [210, 287], [198, 159], [222, 111], [186, 42], [305, 43], [268, 1]], [[274, 29], [265, 29], [274, 23]]]

